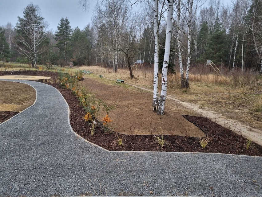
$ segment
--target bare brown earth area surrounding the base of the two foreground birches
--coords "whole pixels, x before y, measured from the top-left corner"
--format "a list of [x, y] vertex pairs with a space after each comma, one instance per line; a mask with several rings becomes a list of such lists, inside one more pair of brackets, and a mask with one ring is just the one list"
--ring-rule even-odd
[[[116, 109], [109, 112], [113, 120], [109, 128], [121, 134], [150, 135], [163, 133], [204, 137], [205, 134], [197, 126], [181, 116], [185, 109], [168, 100], [165, 105], [165, 116], [152, 111], [152, 93], [137, 88], [126, 88], [124, 84], [105, 84], [97, 76], [84, 76], [80, 84], [85, 86], [96, 98], [107, 105], [115, 105]], [[189, 112], [188, 112], [189, 113]], [[102, 120], [106, 111], [100, 107], [97, 118]], [[159, 126], [160, 125], [160, 126]]]

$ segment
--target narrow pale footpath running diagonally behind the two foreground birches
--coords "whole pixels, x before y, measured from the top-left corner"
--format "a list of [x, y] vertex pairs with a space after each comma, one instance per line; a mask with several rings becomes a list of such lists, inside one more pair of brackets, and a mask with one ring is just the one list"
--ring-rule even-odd
[[[106, 79], [109, 79], [109, 78], [106, 78]], [[113, 80], [113, 79], [109, 79], [109, 80]], [[143, 87], [140, 87], [134, 84], [129, 84], [129, 83], [125, 83], [125, 84], [131, 85], [133, 87], [136, 87], [136, 88], [139, 88], [145, 91], [153, 92], [153, 90], [148, 89], [148, 88], [143, 88]], [[217, 124], [221, 126], [231, 129], [232, 131], [234, 131], [235, 133], [238, 133], [239, 135], [243, 135], [245, 138], [248, 138], [251, 141], [256, 142], [257, 144], [262, 146], [262, 131], [260, 129], [252, 128], [251, 126], [245, 125], [243, 122], [230, 119], [215, 111], [201, 109], [199, 105], [180, 101], [176, 99], [174, 96], [167, 95], [166, 97], [168, 99], [171, 99], [185, 106], [187, 109], [195, 111], [196, 113], [202, 115], [203, 117], [207, 117], [208, 119], [216, 122]]]

